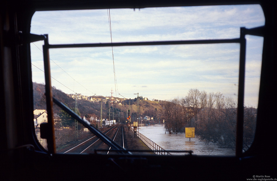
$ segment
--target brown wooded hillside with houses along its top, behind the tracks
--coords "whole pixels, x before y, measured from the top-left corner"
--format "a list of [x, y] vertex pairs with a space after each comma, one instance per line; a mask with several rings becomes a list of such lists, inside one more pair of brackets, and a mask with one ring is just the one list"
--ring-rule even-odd
[[[33, 83], [33, 96], [34, 96], [34, 109], [46, 109], [45, 102], [45, 85], [39, 83]], [[60, 102], [68, 105], [71, 109], [75, 108], [75, 99], [71, 98], [64, 92], [55, 87], [52, 87], [53, 96]], [[94, 96], [94, 98], [101, 98], [102, 100], [107, 100], [104, 96]], [[117, 103], [111, 103], [109, 101], [102, 102], [102, 118], [115, 119], [118, 121], [125, 121], [127, 109], [129, 108], [130, 102], [130, 112], [131, 112], [131, 121], [137, 117], [137, 99], [129, 99], [125, 101], [120, 101]], [[120, 104], [119, 104], [120, 103]], [[78, 99], [78, 112], [85, 117], [100, 117], [101, 102], [91, 102], [84, 99]], [[145, 101], [140, 99], [139, 101], [139, 115], [141, 117], [150, 116], [154, 119], [157, 118], [158, 110], [161, 109], [161, 101]], [[54, 104], [53, 110], [58, 115], [60, 114], [60, 108]]]

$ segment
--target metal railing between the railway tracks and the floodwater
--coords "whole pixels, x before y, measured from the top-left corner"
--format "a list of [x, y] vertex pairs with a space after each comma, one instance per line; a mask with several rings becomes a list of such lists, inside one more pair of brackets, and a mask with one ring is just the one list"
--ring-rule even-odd
[[[130, 128], [134, 132], [134, 129], [132, 127], [130, 127]], [[161, 146], [156, 144], [154, 141], [145, 137], [140, 132], [136, 132], [136, 135], [138, 136], [139, 139], [141, 139], [141, 141], [143, 141], [143, 143], [145, 143], [151, 150], [153, 150], [155, 154], [157, 154], [157, 155], [172, 155], [171, 153], [167, 152], [164, 148], [162, 148]]]

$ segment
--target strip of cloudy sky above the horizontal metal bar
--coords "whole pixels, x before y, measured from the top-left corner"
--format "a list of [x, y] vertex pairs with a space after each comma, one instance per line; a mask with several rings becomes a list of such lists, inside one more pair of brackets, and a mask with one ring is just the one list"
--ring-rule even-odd
[[[111, 9], [113, 40], [171, 40], [180, 35], [181, 39], [230, 37], [238, 35], [240, 26], [264, 24], [260, 6], [247, 7]], [[36, 12], [31, 24], [32, 32], [48, 33], [53, 43], [110, 42], [109, 30], [107, 10]]]

